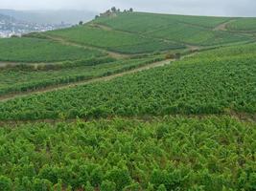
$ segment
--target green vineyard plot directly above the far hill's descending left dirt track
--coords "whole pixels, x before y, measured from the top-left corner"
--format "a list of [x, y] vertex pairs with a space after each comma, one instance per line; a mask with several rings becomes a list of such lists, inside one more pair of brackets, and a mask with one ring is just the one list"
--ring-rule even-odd
[[151, 53], [184, 48], [176, 43], [153, 40], [128, 32], [108, 31], [101, 28], [80, 26], [48, 32], [79, 44], [103, 48], [117, 53]]

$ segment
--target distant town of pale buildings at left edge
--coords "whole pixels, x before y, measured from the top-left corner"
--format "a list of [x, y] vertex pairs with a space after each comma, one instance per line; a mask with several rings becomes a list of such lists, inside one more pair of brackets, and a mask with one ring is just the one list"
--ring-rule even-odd
[[37, 24], [20, 21], [11, 16], [0, 14], [0, 37], [21, 36], [29, 32], [46, 32], [70, 27], [71, 24]]

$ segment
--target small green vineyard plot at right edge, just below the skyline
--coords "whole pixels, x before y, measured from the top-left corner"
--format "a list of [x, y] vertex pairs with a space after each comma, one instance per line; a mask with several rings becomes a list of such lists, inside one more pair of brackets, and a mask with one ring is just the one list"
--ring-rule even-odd
[[256, 18], [236, 19], [227, 28], [232, 31], [256, 32]]

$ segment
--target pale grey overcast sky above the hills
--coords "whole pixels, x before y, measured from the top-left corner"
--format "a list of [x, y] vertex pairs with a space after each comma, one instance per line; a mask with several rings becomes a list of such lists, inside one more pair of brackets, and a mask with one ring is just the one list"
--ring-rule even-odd
[[0, 9], [12, 10], [105, 11], [111, 6], [135, 11], [256, 16], [256, 0], [0, 0]]

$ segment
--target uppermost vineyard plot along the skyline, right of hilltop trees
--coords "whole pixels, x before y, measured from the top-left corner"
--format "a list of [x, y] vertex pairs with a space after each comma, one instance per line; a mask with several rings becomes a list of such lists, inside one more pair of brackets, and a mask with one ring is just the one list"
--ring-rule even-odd
[[145, 12], [119, 13], [116, 17], [101, 17], [95, 23], [109, 26], [116, 30], [128, 32], [149, 32], [159, 30], [177, 23], [187, 23], [194, 26], [213, 29], [228, 21], [227, 17], [184, 16], [171, 14], [155, 14]]

